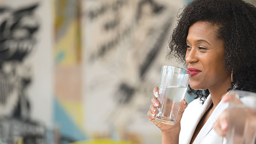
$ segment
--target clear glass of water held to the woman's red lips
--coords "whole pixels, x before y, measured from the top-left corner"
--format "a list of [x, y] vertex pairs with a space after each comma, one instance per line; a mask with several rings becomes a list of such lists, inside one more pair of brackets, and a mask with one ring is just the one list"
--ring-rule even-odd
[[160, 102], [157, 108], [156, 121], [163, 124], [174, 125], [180, 102], [187, 92], [191, 72], [176, 66], [163, 66], [158, 98]]

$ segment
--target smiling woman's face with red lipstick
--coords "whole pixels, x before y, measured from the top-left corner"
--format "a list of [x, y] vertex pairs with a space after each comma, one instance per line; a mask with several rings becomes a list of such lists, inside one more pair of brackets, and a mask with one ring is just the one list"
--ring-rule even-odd
[[218, 26], [197, 21], [188, 30], [186, 63], [192, 71], [189, 85], [205, 90], [221, 85], [230, 73], [223, 66], [224, 42], [216, 38]]

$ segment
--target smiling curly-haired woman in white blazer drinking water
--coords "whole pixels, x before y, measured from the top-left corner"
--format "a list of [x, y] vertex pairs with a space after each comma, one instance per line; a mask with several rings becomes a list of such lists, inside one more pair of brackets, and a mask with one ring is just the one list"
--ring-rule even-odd
[[256, 8], [242, 0], [195, 0], [178, 18], [168, 55], [186, 61], [188, 92], [196, 99], [182, 100], [175, 125], [165, 125], [155, 121], [154, 97], [148, 118], [161, 129], [163, 144], [221, 144], [212, 125], [227, 108], [222, 96], [233, 89], [256, 92]]

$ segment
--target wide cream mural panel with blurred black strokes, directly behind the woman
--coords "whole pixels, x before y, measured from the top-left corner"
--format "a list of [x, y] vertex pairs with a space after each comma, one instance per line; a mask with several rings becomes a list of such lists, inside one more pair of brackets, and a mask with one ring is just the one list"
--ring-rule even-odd
[[145, 143], [152, 90], [168, 63], [178, 10], [164, 0], [84, 3], [85, 129], [94, 138]]

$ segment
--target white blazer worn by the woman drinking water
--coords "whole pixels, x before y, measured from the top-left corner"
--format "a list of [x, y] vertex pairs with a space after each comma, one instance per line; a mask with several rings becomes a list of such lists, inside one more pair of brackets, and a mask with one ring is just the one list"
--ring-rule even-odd
[[[190, 143], [197, 124], [211, 104], [211, 95], [207, 97], [204, 104], [202, 104], [200, 98], [197, 98], [188, 104], [188, 107], [185, 109], [180, 120], [179, 144]], [[214, 129], [212, 129], [212, 126], [216, 119], [220, 116], [221, 112], [223, 112], [226, 108], [228, 108], [228, 103], [224, 103], [221, 100], [196, 136], [193, 144], [223, 144], [223, 137], [219, 136]]]

